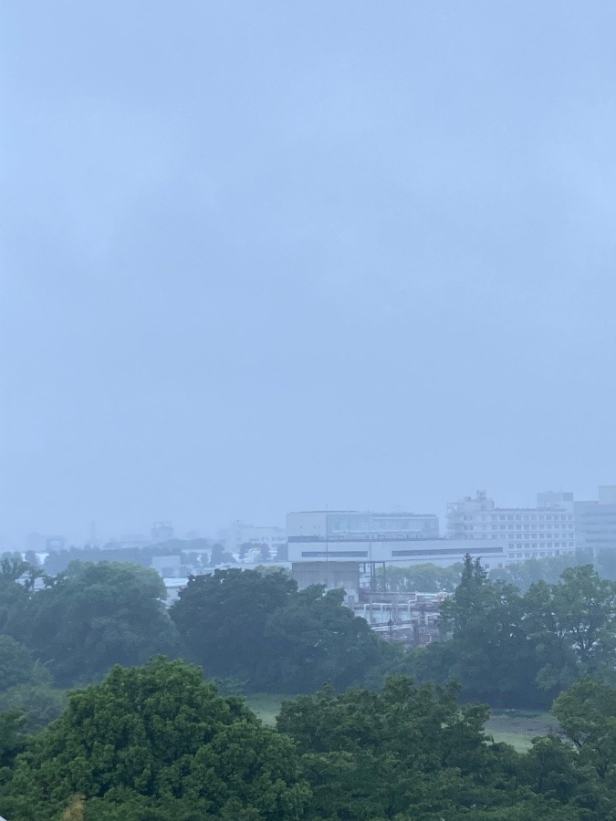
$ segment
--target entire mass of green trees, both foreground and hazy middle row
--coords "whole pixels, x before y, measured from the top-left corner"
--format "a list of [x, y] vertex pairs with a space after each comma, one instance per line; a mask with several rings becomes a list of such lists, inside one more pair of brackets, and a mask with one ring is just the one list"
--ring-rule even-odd
[[[614, 817], [616, 583], [592, 566], [521, 592], [467, 557], [443, 640], [408, 651], [339, 591], [271, 569], [193, 577], [172, 608], [143, 566], [50, 577], [5, 556], [0, 570], [11, 821]], [[287, 701], [275, 730], [203, 671], [227, 690], [316, 694]], [[491, 743], [474, 703], [554, 698], [565, 737], [526, 754]]]

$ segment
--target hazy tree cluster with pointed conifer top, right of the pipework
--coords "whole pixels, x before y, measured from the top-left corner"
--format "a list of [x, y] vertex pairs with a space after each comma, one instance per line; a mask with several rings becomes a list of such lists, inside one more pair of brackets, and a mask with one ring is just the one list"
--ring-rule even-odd
[[581, 676], [614, 681], [616, 583], [591, 565], [569, 567], [559, 584], [537, 582], [522, 594], [488, 579], [467, 556], [440, 626], [448, 640], [411, 650], [399, 670], [418, 681], [454, 678], [466, 700], [546, 707]]

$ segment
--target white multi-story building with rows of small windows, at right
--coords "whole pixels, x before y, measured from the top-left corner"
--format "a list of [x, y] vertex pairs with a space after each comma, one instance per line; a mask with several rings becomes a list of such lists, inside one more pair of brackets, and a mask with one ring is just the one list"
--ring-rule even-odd
[[576, 548], [573, 494], [537, 494], [537, 507], [496, 507], [485, 491], [447, 505], [447, 536], [506, 541], [509, 561], [572, 554]]

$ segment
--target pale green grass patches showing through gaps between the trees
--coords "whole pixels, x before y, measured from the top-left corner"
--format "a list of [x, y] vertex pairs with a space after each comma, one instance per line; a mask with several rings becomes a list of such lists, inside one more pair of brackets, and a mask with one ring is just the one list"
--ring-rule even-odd
[[[279, 693], [254, 692], [245, 696], [248, 706], [256, 712], [262, 722], [269, 726], [276, 723], [280, 705], [287, 698]], [[548, 712], [533, 710], [493, 711], [485, 724], [485, 732], [496, 742], [511, 744], [518, 753], [530, 749], [531, 739], [538, 735], [548, 735], [550, 731], [558, 732], [559, 725]]]

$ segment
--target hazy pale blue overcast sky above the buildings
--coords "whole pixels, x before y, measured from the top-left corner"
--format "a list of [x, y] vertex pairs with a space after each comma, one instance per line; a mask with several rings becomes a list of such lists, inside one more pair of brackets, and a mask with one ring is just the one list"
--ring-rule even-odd
[[616, 482], [616, 5], [7, 0], [0, 546]]

